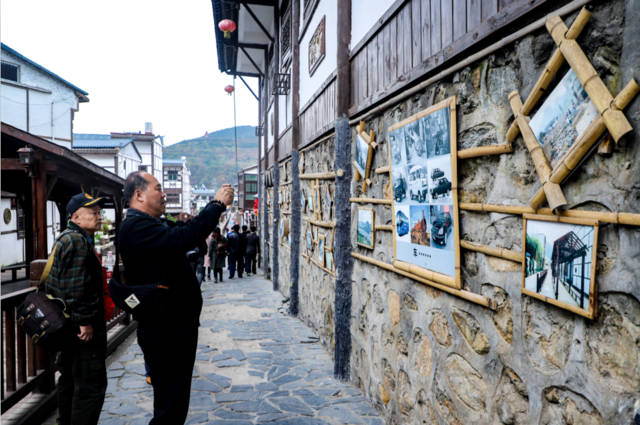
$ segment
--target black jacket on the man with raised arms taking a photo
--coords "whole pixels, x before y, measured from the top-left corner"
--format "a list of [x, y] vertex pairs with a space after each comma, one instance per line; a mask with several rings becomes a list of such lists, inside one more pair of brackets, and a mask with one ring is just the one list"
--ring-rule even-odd
[[162, 283], [169, 287], [167, 314], [145, 320], [173, 325], [197, 324], [202, 310], [200, 286], [186, 258], [218, 224], [224, 206], [209, 203], [187, 223], [175, 225], [129, 208], [118, 241], [128, 285]]

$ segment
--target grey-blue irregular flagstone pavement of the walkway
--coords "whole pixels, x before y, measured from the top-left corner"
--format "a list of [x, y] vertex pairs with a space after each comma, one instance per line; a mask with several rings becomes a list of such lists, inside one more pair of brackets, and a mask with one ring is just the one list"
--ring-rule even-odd
[[[384, 425], [325, 347], [261, 276], [204, 282], [187, 424]], [[111, 356], [100, 424], [147, 424], [153, 411], [135, 335]], [[54, 422], [52, 422], [54, 423]]]

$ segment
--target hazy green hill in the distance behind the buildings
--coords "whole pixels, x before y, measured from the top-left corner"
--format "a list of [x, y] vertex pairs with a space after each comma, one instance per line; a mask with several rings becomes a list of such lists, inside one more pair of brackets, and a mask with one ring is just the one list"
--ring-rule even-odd
[[[258, 163], [258, 137], [255, 127], [238, 126], [238, 170]], [[187, 158], [191, 185], [216, 188], [222, 183], [236, 183], [236, 151], [233, 127], [183, 140], [164, 148], [165, 159]]]

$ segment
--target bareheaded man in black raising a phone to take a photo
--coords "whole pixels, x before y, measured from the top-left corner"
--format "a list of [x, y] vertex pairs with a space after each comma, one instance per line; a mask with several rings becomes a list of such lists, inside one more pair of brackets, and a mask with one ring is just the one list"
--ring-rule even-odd
[[124, 198], [129, 209], [120, 226], [118, 244], [127, 284], [167, 288], [157, 289], [152, 299], [145, 301], [151, 305], [144, 313], [134, 313], [138, 343], [153, 385], [150, 424], [182, 424], [189, 410], [202, 310], [200, 286], [185, 254], [215, 229], [220, 214], [233, 201], [233, 188], [223, 185], [214, 200], [185, 223], [160, 218], [165, 212], [165, 194], [149, 173], [129, 174]]

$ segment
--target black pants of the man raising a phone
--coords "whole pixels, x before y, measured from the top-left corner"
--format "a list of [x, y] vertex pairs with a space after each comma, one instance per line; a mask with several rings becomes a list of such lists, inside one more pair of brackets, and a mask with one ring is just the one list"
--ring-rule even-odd
[[153, 386], [153, 419], [149, 425], [179, 425], [184, 424], [189, 411], [198, 327], [162, 322], [138, 323], [138, 344]]

